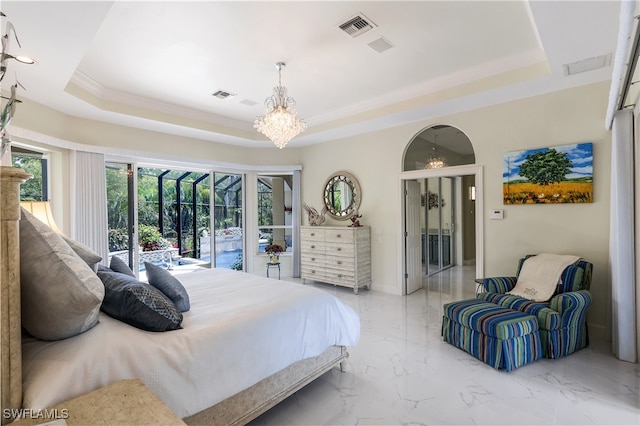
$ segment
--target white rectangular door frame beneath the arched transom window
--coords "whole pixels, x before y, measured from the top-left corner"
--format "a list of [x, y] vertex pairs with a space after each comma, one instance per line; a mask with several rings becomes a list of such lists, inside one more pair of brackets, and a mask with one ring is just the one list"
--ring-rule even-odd
[[443, 167], [441, 169], [423, 169], [402, 172], [398, 175], [398, 205], [400, 206], [400, 222], [398, 223], [398, 288], [404, 296], [407, 294], [405, 286], [405, 274], [407, 273], [405, 263], [405, 207], [404, 207], [404, 181], [425, 179], [430, 177], [457, 177], [474, 175], [476, 185], [476, 278], [484, 276], [484, 201], [483, 201], [483, 168], [474, 164], [464, 166]]

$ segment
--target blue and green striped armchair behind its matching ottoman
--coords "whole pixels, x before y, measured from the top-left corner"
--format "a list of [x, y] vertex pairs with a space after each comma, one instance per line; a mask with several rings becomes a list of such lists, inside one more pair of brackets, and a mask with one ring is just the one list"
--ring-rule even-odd
[[545, 358], [560, 358], [586, 347], [589, 344], [587, 310], [592, 302], [589, 287], [593, 264], [580, 260], [565, 268], [558, 288], [548, 302], [533, 302], [505, 294], [515, 286], [522, 265], [530, 256], [520, 259], [515, 277], [484, 278], [484, 292], [476, 297], [534, 315], [538, 319]]

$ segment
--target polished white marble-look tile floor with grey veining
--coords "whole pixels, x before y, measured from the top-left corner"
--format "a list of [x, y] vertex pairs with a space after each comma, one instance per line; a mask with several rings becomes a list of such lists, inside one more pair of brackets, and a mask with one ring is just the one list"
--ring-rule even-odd
[[318, 285], [355, 308], [362, 336], [346, 371], [326, 373], [251, 425], [640, 424], [640, 365], [607, 342], [496, 371], [440, 337], [443, 303], [473, 297], [474, 267], [407, 297]]

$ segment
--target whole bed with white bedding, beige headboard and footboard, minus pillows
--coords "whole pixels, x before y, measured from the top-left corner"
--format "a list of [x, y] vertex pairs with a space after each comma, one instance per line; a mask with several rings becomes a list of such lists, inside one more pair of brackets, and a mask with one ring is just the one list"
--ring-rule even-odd
[[148, 332], [100, 313], [95, 327], [73, 337], [24, 338], [18, 224], [19, 185], [28, 177], [0, 167], [3, 410], [49, 408], [138, 378], [187, 423], [244, 424], [341, 365], [358, 342], [358, 315], [334, 296], [217, 269], [178, 276], [191, 301], [181, 329]]

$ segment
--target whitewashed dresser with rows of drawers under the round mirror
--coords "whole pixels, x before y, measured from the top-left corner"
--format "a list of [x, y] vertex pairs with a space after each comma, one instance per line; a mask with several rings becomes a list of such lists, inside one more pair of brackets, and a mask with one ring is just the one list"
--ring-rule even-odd
[[371, 285], [368, 226], [301, 226], [301, 278], [353, 288]]

